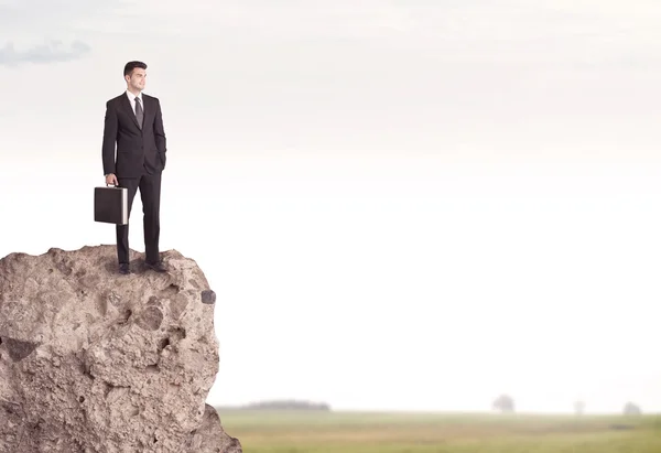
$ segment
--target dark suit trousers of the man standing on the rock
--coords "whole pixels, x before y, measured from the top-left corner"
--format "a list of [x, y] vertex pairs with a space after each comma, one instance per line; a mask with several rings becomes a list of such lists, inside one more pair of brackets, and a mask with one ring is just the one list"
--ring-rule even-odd
[[[154, 263], [160, 260], [161, 172], [158, 171], [152, 174], [143, 173], [138, 177], [118, 177], [117, 182], [120, 187], [129, 190], [129, 216], [131, 215], [133, 198], [140, 188], [145, 261]], [[129, 262], [129, 225], [117, 225], [117, 259], [120, 263]]]

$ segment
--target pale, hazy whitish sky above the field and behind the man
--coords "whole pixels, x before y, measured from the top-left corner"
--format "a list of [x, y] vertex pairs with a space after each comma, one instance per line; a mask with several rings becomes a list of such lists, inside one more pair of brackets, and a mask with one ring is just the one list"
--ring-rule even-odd
[[[0, 257], [115, 244], [148, 64], [161, 250], [217, 294], [208, 402], [661, 411], [661, 4], [0, 0]], [[141, 204], [130, 246], [144, 251]]]

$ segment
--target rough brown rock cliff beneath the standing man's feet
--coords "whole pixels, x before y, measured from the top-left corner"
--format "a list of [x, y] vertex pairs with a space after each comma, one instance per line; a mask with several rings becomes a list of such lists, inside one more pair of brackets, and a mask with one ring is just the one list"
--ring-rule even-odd
[[115, 246], [0, 260], [0, 452], [240, 453], [205, 399], [216, 296], [195, 261]]

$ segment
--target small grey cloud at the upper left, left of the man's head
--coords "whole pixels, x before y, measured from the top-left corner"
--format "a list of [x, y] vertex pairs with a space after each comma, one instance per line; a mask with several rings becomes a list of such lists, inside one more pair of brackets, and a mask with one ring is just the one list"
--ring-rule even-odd
[[62, 41], [50, 41], [26, 50], [17, 51], [13, 42], [0, 48], [0, 65], [15, 66], [21, 63], [56, 63], [77, 60], [89, 53], [90, 47], [82, 41], [65, 46]]

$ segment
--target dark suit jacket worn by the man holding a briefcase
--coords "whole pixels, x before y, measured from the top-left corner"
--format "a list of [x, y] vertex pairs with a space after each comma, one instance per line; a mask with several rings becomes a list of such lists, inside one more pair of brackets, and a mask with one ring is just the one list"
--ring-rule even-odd
[[165, 169], [166, 148], [161, 103], [143, 93], [142, 104], [144, 115], [140, 129], [126, 91], [106, 103], [101, 147], [104, 174], [138, 177], [144, 173], [145, 163], [153, 171]]

